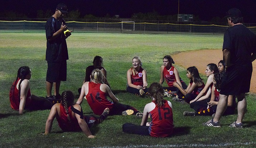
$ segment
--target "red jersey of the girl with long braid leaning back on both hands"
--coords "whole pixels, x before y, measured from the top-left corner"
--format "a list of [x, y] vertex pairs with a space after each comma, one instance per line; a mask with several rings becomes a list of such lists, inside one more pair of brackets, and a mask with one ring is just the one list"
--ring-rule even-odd
[[59, 106], [60, 108], [60, 115], [56, 119], [58, 121], [59, 127], [64, 132], [74, 132], [74, 131], [81, 131], [77, 118], [74, 118], [72, 116], [72, 110], [71, 106], [68, 107], [68, 114], [70, 117], [70, 121], [68, 120], [68, 114], [66, 113], [66, 110], [62, 104]]

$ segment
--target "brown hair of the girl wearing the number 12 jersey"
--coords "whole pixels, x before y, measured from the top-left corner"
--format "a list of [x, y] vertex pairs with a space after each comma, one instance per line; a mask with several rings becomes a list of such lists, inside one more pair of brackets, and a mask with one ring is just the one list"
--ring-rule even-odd
[[156, 107], [162, 108], [164, 107], [164, 90], [163, 87], [157, 83], [154, 82], [149, 86], [149, 95], [150, 97], [155, 99]]

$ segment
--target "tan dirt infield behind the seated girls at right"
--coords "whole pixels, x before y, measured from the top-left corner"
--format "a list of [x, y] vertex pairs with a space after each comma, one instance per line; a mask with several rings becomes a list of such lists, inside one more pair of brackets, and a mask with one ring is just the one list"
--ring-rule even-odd
[[[206, 65], [209, 63], [218, 64], [222, 59], [222, 50], [198, 50], [192, 52], [182, 52], [176, 55], [172, 55], [175, 64], [184, 68], [195, 66], [198, 68], [199, 73], [204, 74]], [[185, 60], [184, 60], [185, 59]], [[251, 78], [250, 92], [256, 93], [256, 60], [252, 62], [253, 72]]]

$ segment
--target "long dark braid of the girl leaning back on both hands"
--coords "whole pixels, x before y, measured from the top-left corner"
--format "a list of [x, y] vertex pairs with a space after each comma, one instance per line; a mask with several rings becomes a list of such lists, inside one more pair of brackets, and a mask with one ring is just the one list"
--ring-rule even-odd
[[62, 104], [66, 110], [66, 114], [68, 115], [68, 120], [70, 121], [70, 117], [68, 114], [68, 107], [74, 104], [74, 94], [72, 91], [64, 91], [61, 94]]

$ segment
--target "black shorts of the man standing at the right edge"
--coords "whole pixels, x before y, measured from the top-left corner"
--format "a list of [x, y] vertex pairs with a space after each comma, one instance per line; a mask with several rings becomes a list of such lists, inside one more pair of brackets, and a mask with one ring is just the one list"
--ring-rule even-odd
[[250, 91], [252, 64], [233, 65], [226, 70], [221, 83], [222, 95], [239, 95]]

